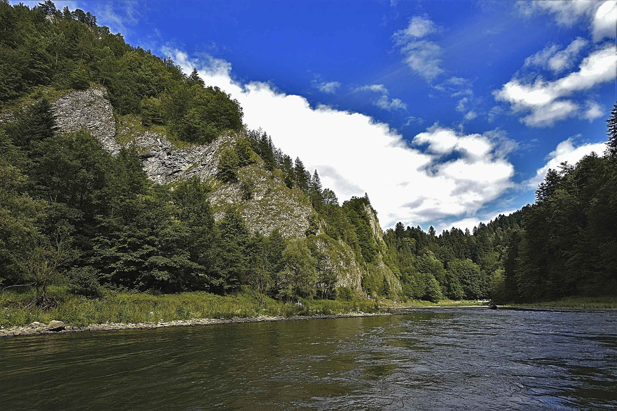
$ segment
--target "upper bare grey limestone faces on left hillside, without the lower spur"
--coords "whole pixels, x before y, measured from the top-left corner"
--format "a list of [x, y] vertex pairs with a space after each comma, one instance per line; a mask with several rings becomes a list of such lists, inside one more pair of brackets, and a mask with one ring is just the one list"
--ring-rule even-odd
[[[99, 139], [103, 148], [117, 155], [122, 135], [125, 145], [134, 145], [148, 178], [158, 184], [169, 184], [198, 177], [213, 187], [210, 202], [215, 219], [225, 214], [225, 209], [236, 206], [241, 211], [249, 230], [263, 235], [278, 228], [284, 237], [304, 237], [309, 228], [312, 207], [297, 189], [288, 189], [280, 177], [276, 177], [257, 161], [239, 171], [240, 179], [223, 183], [215, 178], [218, 161], [226, 147], [235, 144], [238, 136], [226, 134], [210, 144], [175, 147], [162, 132], [138, 130], [117, 123], [114, 111], [106, 99], [106, 89], [97, 87], [85, 91], [72, 91], [53, 104], [61, 131], [87, 129]], [[117, 133], [118, 132], [118, 133]], [[127, 137], [128, 136], [128, 137]], [[251, 181], [254, 194], [245, 200], [242, 182]]]

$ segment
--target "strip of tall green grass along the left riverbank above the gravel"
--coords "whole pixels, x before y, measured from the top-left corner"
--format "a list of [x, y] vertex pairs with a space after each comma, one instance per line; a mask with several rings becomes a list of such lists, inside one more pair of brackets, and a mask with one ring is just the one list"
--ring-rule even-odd
[[268, 298], [260, 306], [257, 298], [250, 293], [219, 296], [198, 291], [167, 295], [107, 292], [101, 298], [85, 298], [72, 295], [65, 288], [50, 287], [49, 291], [59, 304], [48, 311], [28, 307], [35, 298], [34, 290], [0, 293], [0, 326], [14, 327], [34, 321], [48, 324], [51, 320], [81, 326], [104, 322], [157, 322], [160, 319], [168, 322], [193, 318], [230, 319], [258, 315], [291, 317], [378, 311], [375, 301], [363, 298], [351, 301], [313, 299], [302, 301], [302, 304], [283, 303]]

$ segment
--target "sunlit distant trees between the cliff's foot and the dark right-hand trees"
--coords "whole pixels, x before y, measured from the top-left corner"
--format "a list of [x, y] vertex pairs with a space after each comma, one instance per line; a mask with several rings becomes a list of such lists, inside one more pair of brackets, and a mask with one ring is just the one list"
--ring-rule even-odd
[[384, 235], [389, 254], [399, 269], [403, 293], [409, 298], [487, 299], [495, 279], [503, 275], [503, 252], [508, 235], [518, 227], [521, 211], [500, 215], [473, 232], [452, 227], [439, 236], [431, 226], [396, 224]]

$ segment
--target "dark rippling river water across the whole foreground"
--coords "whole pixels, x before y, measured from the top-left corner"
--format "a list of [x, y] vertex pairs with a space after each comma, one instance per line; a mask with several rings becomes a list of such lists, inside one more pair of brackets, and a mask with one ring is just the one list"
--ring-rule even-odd
[[0, 340], [2, 410], [615, 408], [615, 311], [413, 309]]

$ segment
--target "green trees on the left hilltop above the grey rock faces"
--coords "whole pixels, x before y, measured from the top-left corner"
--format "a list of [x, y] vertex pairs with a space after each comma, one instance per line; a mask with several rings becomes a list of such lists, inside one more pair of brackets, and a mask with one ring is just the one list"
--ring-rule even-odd
[[57, 10], [49, 0], [33, 8], [0, 0], [0, 26], [1, 102], [41, 86], [99, 84], [118, 115], [138, 115], [144, 126], [163, 126], [175, 139], [205, 144], [242, 129], [238, 102], [205, 87], [196, 70], [187, 76], [171, 59], [126, 44], [83, 10]]

